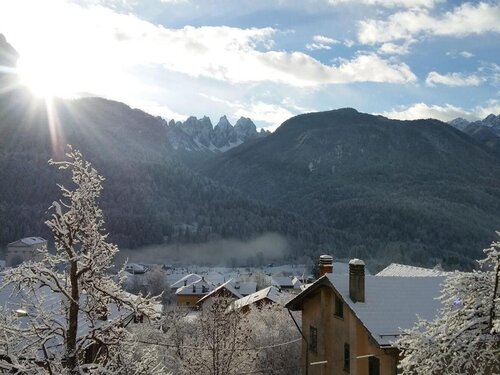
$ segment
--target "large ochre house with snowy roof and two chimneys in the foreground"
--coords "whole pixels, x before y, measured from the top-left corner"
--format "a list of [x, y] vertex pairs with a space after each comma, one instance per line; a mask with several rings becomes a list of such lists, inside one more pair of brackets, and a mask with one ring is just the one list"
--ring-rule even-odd
[[401, 329], [417, 316], [433, 319], [445, 276], [365, 275], [364, 262], [349, 262], [349, 275], [331, 273], [327, 256], [321, 277], [285, 307], [302, 311], [304, 374], [395, 375]]

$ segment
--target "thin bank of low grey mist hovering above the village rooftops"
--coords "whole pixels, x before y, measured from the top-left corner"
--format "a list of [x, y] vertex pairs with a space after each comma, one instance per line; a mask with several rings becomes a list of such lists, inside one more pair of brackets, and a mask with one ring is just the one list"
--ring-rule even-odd
[[179, 266], [262, 266], [285, 259], [290, 254], [287, 239], [276, 233], [265, 233], [248, 241], [221, 239], [200, 244], [168, 244], [123, 249], [116, 257], [120, 265], [129, 262], [173, 264]]

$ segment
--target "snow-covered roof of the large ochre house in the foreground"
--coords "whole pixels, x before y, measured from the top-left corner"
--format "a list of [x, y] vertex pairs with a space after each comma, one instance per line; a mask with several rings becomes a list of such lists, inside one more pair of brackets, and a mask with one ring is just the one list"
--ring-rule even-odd
[[417, 316], [428, 320], [436, 316], [441, 308], [436, 298], [441, 295], [446, 279], [365, 276], [365, 302], [355, 303], [349, 297], [348, 277], [335, 274], [326, 277], [381, 346], [391, 345], [401, 329], [413, 327]]

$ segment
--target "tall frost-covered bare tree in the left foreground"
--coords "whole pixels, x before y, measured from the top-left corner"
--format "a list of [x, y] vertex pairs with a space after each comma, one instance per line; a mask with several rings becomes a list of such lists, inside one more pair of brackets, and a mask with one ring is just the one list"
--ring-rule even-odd
[[[67, 160], [50, 164], [71, 172], [74, 188], [46, 222], [55, 253], [7, 272], [3, 287], [22, 301], [17, 315], [0, 319], [0, 370], [21, 374], [154, 373], [154, 358], [137, 358], [125, 329], [132, 316], [154, 317], [155, 299], [134, 296], [108, 270], [118, 248], [107, 242], [98, 199], [104, 178], [70, 148]], [[134, 315], [131, 315], [134, 314]]]

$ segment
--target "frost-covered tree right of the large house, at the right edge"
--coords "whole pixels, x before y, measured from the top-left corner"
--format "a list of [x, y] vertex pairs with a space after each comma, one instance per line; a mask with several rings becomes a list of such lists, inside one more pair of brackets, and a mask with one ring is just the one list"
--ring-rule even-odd
[[485, 253], [481, 270], [447, 278], [435, 320], [419, 320], [398, 340], [402, 373], [500, 373], [500, 242]]

